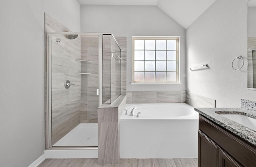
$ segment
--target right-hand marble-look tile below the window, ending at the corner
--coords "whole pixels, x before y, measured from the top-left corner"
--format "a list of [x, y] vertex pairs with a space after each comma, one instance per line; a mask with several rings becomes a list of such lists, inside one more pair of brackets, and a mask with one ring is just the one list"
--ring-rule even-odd
[[180, 91], [157, 91], [156, 103], [180, 103]]

